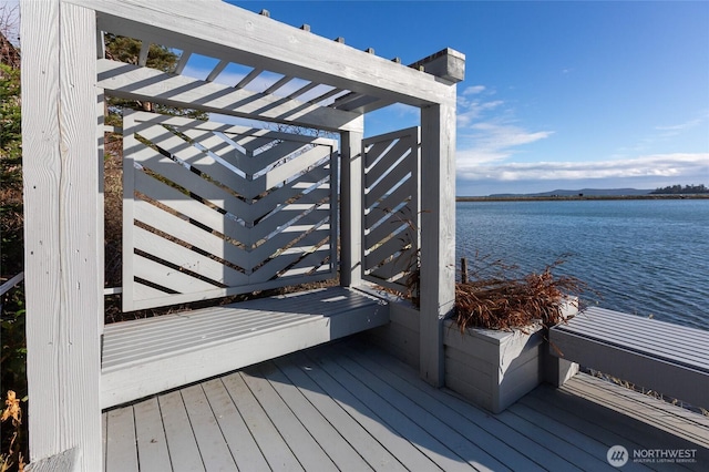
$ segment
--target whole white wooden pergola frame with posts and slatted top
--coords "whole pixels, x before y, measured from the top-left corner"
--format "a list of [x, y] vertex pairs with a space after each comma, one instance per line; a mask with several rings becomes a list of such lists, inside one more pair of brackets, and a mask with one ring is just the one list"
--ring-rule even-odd
[[[419, 107], [420, 372], [443, 384], [463, 54], [449, 49], [407, 66], [216, 0], [21, 0], [21, 12], [32, 462], [102, 466], [104, 93], [339, 133], [343, 286], [363, 278], [363, 115], [394, 103]], [[105, 59], [104, 32], [182, 50], [181, 63], [174, 74], [146, 68], [147, 48], [137, 65]], [[217, 65], [205, 79], [185, 76], [191, 54]], [[260, 92], [215, 82], [228, 64], [250, 68], [251, 79], [263, 71], [282, 79]], [[307, 85], [284, 94], [294, 80]], [[314, 90], [323, 92], [299, 101]]]

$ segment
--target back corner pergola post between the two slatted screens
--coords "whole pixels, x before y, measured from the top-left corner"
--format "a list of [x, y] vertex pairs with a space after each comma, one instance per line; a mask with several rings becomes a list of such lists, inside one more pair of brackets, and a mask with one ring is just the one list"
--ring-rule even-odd
[[362, 133], [340, 136], [340, 285], [349, 287], [362, 279]]

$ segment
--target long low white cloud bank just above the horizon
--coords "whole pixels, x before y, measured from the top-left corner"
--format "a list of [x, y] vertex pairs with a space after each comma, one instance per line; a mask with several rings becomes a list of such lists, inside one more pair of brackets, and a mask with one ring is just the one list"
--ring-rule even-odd
[[[486, 157], [483, 155], [483, 158]], [[487, 164], [465, 152], [459, 155], [459, 177], [470, 181], [553, 181], [587, 178], [670, 177], [691, 182], [709, 175], [709, 153], [653, 154], [636, 158], [594, 162]], [[481, 165], [482, 163], [482, 165]], [[688, 182], [689, 182], [688, 181]]]

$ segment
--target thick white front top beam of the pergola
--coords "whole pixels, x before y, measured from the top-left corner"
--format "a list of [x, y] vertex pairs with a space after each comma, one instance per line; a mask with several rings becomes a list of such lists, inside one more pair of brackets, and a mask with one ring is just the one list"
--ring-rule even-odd
[[455, 101], [435, 75], [220, 1], [66, 1], [95, 10], [102, 31], [414, 106]]

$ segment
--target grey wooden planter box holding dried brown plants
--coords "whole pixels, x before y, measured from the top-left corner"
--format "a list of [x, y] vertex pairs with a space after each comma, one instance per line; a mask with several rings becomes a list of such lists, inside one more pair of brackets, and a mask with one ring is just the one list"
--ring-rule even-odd
[[[569, 302], [565, 315], [577, 311]], [[473, 403], [500, 413], [543, 381], [559, 382], [577, 366], [555, 362], [548, 356], [542, 326], [502, 331], [472, 328], [461, 334], [445, 321], [445, 384]], [[562, 361], [565, 362], [565, 361]]]

